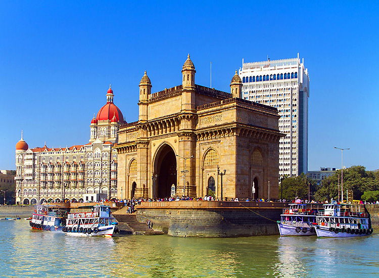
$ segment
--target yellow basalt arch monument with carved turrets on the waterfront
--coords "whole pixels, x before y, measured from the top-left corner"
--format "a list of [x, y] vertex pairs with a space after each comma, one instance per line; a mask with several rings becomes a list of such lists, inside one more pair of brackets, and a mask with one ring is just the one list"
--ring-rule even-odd
[[195, 84], [195, 73], [188, 55], [182, 84], [151, 94], [145, 72], [139, 120], [118, 132], [118, 198], [277, 198], [276, 108], [242, 100], [237, 73], [230, 94]]

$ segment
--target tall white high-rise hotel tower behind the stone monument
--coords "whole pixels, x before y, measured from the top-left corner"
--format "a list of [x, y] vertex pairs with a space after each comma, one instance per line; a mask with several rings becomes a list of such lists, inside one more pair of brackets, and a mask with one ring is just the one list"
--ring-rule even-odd
[[242, 98], [279, 111], [279, 176], [308, 171], [309, 75], [298, 58], [244, 63], [239, 75]]

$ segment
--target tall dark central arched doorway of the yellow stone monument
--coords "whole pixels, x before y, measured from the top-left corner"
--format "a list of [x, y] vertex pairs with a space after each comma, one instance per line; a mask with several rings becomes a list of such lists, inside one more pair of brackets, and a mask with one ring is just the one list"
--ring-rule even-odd
[[[155, 180], [155, 198], [165, 198], [171, 196], [172, 185], [176, 188], [176, 156], [174, 150], [164, 145], [159, 150], [154, 170], [157, 173]], [[176, 193], [178, 194], [178, 193]]]

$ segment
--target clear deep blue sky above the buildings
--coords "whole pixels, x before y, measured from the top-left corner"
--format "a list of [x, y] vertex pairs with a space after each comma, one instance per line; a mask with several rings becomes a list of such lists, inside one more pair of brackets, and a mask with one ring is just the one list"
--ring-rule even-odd
[[0, 169], [30, 148], [88, 143], [93, 113], [114, 103], [138, 119], [138, 84], [196, 83], [229, 91], [245, 62], [304, 58], [310, 77], [308, 169], [378, 169], [377, 1], [1, 1]]

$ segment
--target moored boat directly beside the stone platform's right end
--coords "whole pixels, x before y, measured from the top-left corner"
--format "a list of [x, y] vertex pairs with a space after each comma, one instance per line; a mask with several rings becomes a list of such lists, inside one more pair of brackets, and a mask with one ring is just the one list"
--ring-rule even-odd
[[290, 204], [289, 209], [283, 209], [280, 221], [276, 221], [280, 236], [315, 236], [317, 208], [307, 208], [306, 204]]

